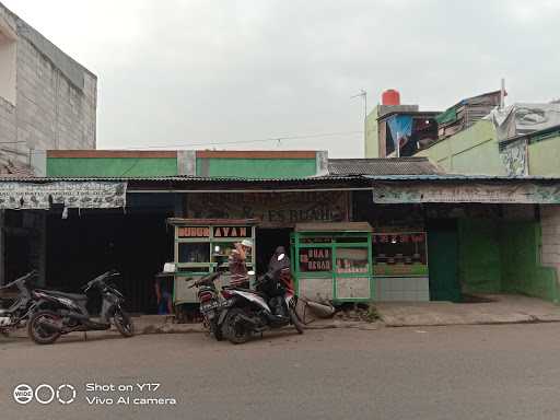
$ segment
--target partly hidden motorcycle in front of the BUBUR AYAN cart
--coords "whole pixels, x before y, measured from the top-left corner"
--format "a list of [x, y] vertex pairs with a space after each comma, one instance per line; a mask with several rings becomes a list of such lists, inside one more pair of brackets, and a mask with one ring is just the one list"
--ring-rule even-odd
[[[223, 339], [222, 328], [218, 324], [218, 318], [221, 308], [223, 307], [224, 300], [220, 298], [214, 281], [220, 277], [221, 272], [212, 272], [194, 281], [189, 289], [198, 288], [198, 301], [200, 302], [200, 314], [205, 319], [205, 326], [208, 327], [210, 334], [214, 336], [218, 341]], [[190, 279], [187, 279], [187, 281]]]

